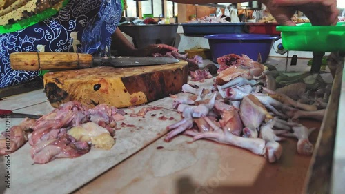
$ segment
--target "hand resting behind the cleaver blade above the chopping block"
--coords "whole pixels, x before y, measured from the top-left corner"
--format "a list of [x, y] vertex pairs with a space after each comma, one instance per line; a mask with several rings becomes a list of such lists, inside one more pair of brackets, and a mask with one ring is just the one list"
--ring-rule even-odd
[[173, 46], [168, 46], [164, 43], [150, 44], [149, 46], [146, 46], [146, 48], [140, 48], [140, 49], [135, 50], [133, 55], [135, 55], [137, 57], [146, 57], [146, 56], [150, 56], [154, 53], [165, 54], [166, 52], [170, 52], [173, 50], [177, 50], [177, 48], [175, 48]]

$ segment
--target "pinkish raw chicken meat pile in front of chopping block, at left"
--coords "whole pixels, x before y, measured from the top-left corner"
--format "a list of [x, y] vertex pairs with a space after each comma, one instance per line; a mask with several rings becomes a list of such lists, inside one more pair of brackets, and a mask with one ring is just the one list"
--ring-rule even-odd
[[70, 101], [39, 119], [24, 119], [10, 129], [10, 148], [6, 134], [0, 137], [0, 154], [14, 152], [26, 141], [32, 146], [30, 155], [36, 164], [46, 164], [61, 157], [79, 157], [95, 148], [110, 149], [115, 144], [116, 122], [124, 119], [124, 111], [105, 104], [86, 108]]

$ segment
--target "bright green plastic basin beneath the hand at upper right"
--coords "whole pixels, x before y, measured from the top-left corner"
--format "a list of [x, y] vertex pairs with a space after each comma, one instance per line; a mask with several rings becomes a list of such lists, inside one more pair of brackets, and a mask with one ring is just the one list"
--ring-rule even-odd
[[299, 23], [297, 26], [277, 26], [276, 29], [282, 32], [286, 50], [345, 52], [345, 22], [338, 22], [336, 26]]

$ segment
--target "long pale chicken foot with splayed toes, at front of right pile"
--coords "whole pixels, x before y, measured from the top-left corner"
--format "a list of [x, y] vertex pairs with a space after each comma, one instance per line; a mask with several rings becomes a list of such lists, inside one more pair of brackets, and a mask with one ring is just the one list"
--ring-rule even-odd
[[233, 135], [233, 133], [230, 133], [229, 130], [219, 128], [208, 117], [204, 117], [204, 119], [214, 129], [214, 131], [199, 133], [193, 137], [194, 140], [210, 139], [221, 144], [230, 144], [244, 148], [257, 155], [265, 154], [265, 141], [263, 139], [238, 137]]

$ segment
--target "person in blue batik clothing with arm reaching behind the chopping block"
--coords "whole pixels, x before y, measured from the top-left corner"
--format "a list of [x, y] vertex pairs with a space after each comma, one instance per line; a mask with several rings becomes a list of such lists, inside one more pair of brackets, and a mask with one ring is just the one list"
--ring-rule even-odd
[[[122, 14], [121, 0], [22, 2], [0, 2], [0, 88], [30, 81], [39, 75], [38, 71], [12, 70], [9, 60], [12, 52], [82, 52], [110, 56], [112, 35], [123, 55], [146, 56], [153, 52], [176, 50], [164, 44], [141, 50], [134, 48], [117, 28]], [[17, 21], [37, 19], [52, 8], [56, 10], [55, 14], [33, 25], [24, 28], [12, 25]], [[6, 28], [11, 25], [12, 29]]]

